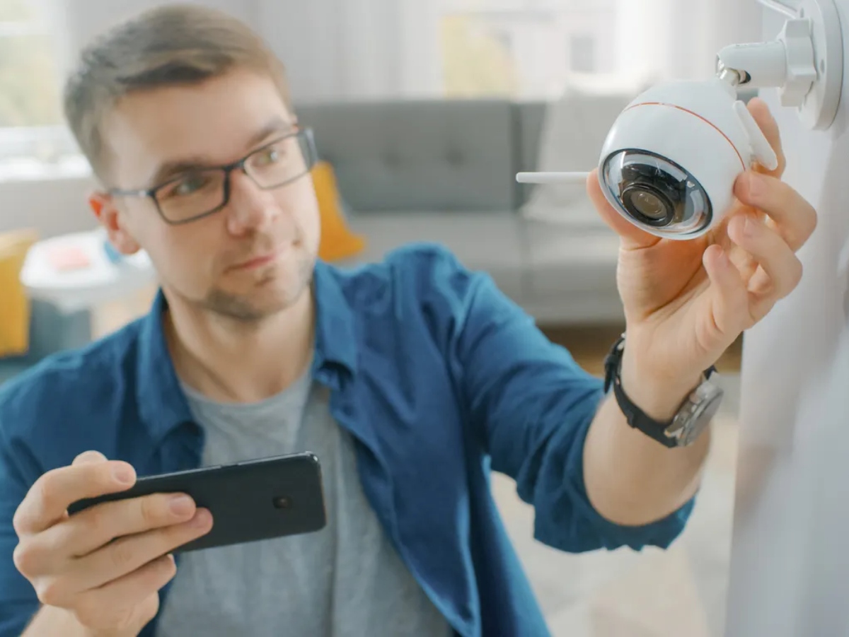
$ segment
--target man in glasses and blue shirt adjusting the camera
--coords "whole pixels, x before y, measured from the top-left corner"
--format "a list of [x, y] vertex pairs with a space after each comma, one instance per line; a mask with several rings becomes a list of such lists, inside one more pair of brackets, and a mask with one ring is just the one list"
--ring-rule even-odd
[[[796, 286], [815, 226], [780, 167], [742, 176], [731, 220], [690, 242], [623, 221], [593, 176], [627, 316], [605, 394], [445, 249], [317, 262], [314, 149], [244, 25], [156, 8], [88, 48], [65, 95], [103, 184], [93, 210], [122, 253], [149, 253], [161, 290], [149, 316], [3, 391], [4, 637], [547, 634], [489, 472], [516, 480], [548, 545], [669, 545], [709, 433], [667, 444], [665, 423]], [[328, 494], [315, 534], [175, 564], [214, 523], [190, 500], [65, 511], [137, 475], [305, 449]]]

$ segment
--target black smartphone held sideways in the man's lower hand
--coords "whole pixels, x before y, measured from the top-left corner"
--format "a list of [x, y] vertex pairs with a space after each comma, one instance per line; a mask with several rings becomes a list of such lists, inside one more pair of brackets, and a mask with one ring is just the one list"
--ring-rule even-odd
[[311, 453], [143, 476], [121, 493], [79, 500], [68, 513], [155, 493], [190, 495], [212, 514], [210, 532], [174, 552], [312, 533], [327, 523], [321, 465]]

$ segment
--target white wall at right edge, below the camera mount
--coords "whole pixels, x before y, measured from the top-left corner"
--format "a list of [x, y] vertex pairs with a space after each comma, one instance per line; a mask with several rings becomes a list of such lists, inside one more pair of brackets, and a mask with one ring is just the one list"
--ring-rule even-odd
[[[837, 3], [849, 25], [849, 0]], [[765, 15], [765, 36], [782, 23]], [[844, 39], [849, 53], [846, 26]], [[800, 287], [745, 337], [728, 637], [849, 634], [849, 352], [837, 348], [849, 336], [847, 86], [828, 132], [804, 130], [764, 93], [781, 127], [785, 179], [819, 221], [800, 251]], [[836, 355], [846, 359], [834, 367]]]

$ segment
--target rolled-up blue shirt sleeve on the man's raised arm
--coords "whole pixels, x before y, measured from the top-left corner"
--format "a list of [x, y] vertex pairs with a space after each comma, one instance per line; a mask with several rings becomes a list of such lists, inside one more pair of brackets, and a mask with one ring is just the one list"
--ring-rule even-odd
[[491, 277], [465, 269], [447, 251], [436, 254], [433, 276], [453, 325], [448, 359], [469, 424], [492, 469], [513, 478], [520, 498], [534, 506], [535, 538], [571, 552], [670, 545], [694, 499], [644, 526], [610, 522], [588, 500], [582, 451], [603, 380], [551, 343]]

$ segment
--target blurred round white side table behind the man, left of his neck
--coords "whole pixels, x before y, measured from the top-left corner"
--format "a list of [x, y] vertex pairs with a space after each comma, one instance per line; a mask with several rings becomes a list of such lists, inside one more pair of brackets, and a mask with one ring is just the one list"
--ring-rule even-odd
[[[121, 299], [155, 282], [155, 271], [144, 252], [114, 263], [104, 247], [101, 230], [76, 232], [40, 241], [26, 256], [20, 280], [31, 299], [48, 301], [64, 313], [90, 310], [96, 305]], [[89, 265], [58, 270], [51, 263], [53, 249], [81, 249]]]

